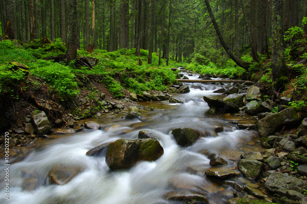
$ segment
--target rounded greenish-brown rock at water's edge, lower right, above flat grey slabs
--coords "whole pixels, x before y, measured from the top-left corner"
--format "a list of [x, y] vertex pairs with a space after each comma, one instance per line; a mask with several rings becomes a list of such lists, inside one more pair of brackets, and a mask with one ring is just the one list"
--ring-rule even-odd
[[239, 171], [248, 179], [257, 179], [263, 168], [264, 164], [254, 159], [241, 159], [238, 162]]

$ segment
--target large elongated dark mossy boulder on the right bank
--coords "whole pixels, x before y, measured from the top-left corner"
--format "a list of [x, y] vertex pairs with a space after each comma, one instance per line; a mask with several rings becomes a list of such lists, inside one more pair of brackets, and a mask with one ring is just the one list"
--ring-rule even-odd
[[298, 122], [297, 113], [292, 108], [287, 108], [276, 114], [268, 115], [256, 124], [259, 135], [267, 137], [285, 125], [294, 125]]

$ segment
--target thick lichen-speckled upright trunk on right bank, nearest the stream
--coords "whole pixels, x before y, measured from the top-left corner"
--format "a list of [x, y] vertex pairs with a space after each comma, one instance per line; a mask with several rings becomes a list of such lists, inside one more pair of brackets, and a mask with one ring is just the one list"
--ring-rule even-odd
[[282, 25], [282, 0], [273, 0], [272, 19], [272, 80], [278, 79], [280, 69], [286, 67]]

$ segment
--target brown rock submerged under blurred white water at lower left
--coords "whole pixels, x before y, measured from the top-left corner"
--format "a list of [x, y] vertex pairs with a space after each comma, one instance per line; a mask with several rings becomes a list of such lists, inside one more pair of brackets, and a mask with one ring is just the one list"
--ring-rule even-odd
[[73, 177], [82, 172], [83, 167], [56, 165], [48, 174], [49, 182], [57, 185], [68, 183]]

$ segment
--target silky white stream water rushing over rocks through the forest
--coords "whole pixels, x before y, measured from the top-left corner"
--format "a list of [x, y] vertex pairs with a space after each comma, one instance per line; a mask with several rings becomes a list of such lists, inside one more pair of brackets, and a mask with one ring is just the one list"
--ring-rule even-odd
[[[197, 78], [189, 76], [190, 79]], [[220, 182], [204, 175], [210, 167], [212, 156], [227, 159], [228, 167], [236, 167], [243, 151], [259, 150], [258, 133], [239, 130], [230, 120], [251, 124], [248, 116], [213, 116], [206, 112], [209, 107], [203, 96], [218, 96], [213, 91], [216, 85], [189, 84], [187, 94], [174, 94], [183, 104], [168, 102], [143, 102], [144, 118], [140, 120], [112, 119], [106, 115], [95, 119], [102, 124], [101, 130], [84, 130], [65, 136], [52, 136], [36, 145], [19, 162], [10, 165], [10, 200], [0, 198], [0, 203], [14, 204], [141, 204], [180, 203], [165, 199], [165, 194], [174, 189], [198, 192], [205, 195], [209, 203], [225, 203], [235, 191], [231, 183], [251, 182], [239, 176]], [[218, 96], [219, 97], [219, 96]], [[94, 119], [93, 119], [94, 120]], [[215, 133], [214, 127], [224, 131]], [[189, 147], [176, 144], [171, 131], [188, 127], [198, 130], [203, 137]], [[103, 143], [117, 139], [137, 139], [140, 130], [157, 135], [164, 154], [154, 162], [139, 162], [126, 170], [111, 171], [100, 157], [86, 156], [86, 152]], [[80, 174], [64, 185], [49, 184], [48, 173], [57, 164], [84, 168]], [[1, 164], [3, 166], [3, 163]], [[3, 171], [3, 170], [2, 170]], [[29, 183], [36, 186], [31, 191]], [[34, 184], [33, 184], [34, 185]], [[0, 183], [1, 191], [5, 184]]]

